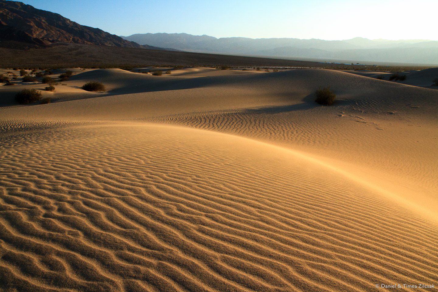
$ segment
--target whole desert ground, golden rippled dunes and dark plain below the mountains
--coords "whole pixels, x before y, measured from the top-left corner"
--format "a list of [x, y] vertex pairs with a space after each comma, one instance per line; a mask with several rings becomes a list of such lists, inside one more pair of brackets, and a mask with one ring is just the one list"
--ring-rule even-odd
[[437, 289], [438, 68], [0, 44], [1, 292]]

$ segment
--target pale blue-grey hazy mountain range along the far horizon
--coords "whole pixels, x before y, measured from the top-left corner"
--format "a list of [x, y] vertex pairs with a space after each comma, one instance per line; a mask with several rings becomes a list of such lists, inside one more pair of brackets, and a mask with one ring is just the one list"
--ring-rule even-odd
[[199, 53], [316, 58], [349, 62], [398, 62], [438, 64], [438, 42], [424, 39], [387, 40], [354, 38], [342, 41], [321, 39], [220, 38], [186, 33], [146, 33], [122, 38]]

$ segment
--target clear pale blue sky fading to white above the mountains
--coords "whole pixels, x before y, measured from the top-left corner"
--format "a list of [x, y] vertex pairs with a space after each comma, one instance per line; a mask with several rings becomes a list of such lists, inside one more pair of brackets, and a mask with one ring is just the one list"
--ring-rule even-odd
[[437, 0], [22, 0], [115, 35], [438, 40]]

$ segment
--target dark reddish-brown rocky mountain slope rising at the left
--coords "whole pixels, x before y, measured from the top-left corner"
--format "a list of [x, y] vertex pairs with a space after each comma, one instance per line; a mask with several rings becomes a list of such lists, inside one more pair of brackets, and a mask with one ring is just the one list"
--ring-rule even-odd
[[55, 42], [73, 42], [127, 48], [161, 49], [139, 45], [67, 19], [60, 14], [36, 9], [22, 2], [0, 0], [0, 41], [16, 41], [49, 45]]

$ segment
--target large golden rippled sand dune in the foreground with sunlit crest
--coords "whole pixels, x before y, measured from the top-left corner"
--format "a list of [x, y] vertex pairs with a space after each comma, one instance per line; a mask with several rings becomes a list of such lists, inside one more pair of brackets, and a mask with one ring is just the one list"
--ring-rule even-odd
[[438, 281], [436, 225], [294, 151], [152, 124], [2, 137], [3, 290], [354, 292]]

